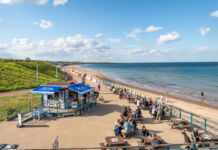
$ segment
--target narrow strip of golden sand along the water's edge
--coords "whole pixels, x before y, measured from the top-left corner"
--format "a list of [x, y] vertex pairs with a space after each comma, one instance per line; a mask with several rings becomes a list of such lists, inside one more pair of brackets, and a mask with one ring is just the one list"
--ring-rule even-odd
[[[71, 66], [74, 70], [77, 70], [81, 73], [87, 73], [88, 76], [92, 76], [92, 77], [96, 77], [99, 79], [103, 79], [103, 80], [108, 80], [110, 82], [115, 83], [115, 85], [117, 84], [118, 86], [122, 86], [123, 88], [127, 88], [130, 90], [133, 90], [134, 92], [136, 91], [137, 93], [142, 93], [143, 95], [145, 94], [148, 97], [152, 97], [152, 98], [159, 98], [161, 94], [161, 92], [158, 91], [152, 91], [152, 90], [147, 90], [147, 89], [143, 89], [143, 88], [139, 88], [136, 87], [134, 85], [129, 85], [127, 83], [122, 83], [120, 81], [117, 81], [115, 79], [112, 79], [110, 77], [107, 77], [101, 73], [95, 72], [93, 70], [89, 70], [89, 69], [84, 69], [84, 68], [79, 68], [75, 65]], [[208, 118], [210, 119], [212, 122], [218, 123], [218, 118], [217, 115], [218, 114], [218, 107], [214, 106], [214, 105], [209, 105], [206, 103], [202, 103], [202, 102], [198, 102], [198, 101], [193, 101], [193, 100], [189, 100], [189, 99], [185, 99], [185, 98], [180, 98], [180, 97], [176, 97], [170, 94], [165, 94], [165, 97], [169, 99], [169, 102], [167, 104], [172, 105], [174, 107], [177, 107], [183, 111], [186, 112], [190, 112], [193, 113], [201, 118]], [[197, 109], [199, 109], [199, 113], [196, 112], [195, 109], [192, 109], [192, 105], [194, 107], [196, 107]], [[206, 112], [202, 113], [201, 110], [206, 110]], [[217, 113], [216, 113], [217, 112]], [[208, 113], [211, 113], [210, 115], [208, 115]], [[213, 116], [213, 117], [210, 117]]]

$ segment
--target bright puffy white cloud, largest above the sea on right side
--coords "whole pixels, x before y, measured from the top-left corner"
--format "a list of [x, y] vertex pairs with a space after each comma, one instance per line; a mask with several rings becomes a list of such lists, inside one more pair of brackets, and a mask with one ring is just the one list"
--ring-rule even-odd
[[180, 38], [179, 33], [173, 31], [172, 33], [168, 33], [166, 35], [161, 35], [158, 40], [157, 43], [158, 44], [164, 44], [164, 43], [169, 43], [172, 41], [176, 41]]

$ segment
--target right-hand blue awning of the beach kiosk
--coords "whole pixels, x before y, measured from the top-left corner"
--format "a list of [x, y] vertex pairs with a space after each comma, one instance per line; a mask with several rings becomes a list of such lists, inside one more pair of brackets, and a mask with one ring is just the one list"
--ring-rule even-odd
[[70, 86], [68, 86], [68, 88], [75, 91], [75, 92], [78, 92], [80, 94], [86, 94], [86, 93], [92, 91], [91, 87], [84, 85], [84, 84], [81, 84], [81, 83], [70, 85]]

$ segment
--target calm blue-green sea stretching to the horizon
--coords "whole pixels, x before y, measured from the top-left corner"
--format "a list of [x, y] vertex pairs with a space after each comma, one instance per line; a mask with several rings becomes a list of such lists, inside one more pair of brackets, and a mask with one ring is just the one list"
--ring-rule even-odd
[[86, 68], [140, 88], [218, 106], [218, 62], [89, 64]]

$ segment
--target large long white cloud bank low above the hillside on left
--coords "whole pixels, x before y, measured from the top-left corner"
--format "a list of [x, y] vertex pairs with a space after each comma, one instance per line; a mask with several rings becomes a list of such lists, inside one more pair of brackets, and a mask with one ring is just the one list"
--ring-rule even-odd
[[[0, 49], [16, 58], [29, 56], [33, 59], [82, 60], [83, 58], [102, 59], [110, 49], [107, 44], [82, 35], [60, 37], [55, 40], [30, 41], [14, 38], [10, 44], [0, 45]], [[86, 59], [86, 61], [88, 60]], [[94, 61], [94, 60], [93, 60]]]

